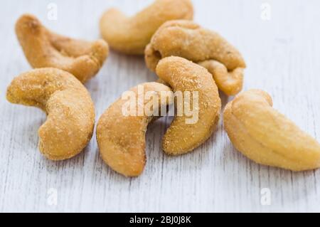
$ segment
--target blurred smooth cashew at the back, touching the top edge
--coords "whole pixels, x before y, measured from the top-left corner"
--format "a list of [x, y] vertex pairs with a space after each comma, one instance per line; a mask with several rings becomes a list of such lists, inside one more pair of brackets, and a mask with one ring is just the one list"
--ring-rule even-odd
[[110, 9], [102, 16], [100, 30], [114, 50], [142, 55], [156, 29], [162, 23], [176, 19], [193, 19], [191, 0], [156, 0], [132, 17]]

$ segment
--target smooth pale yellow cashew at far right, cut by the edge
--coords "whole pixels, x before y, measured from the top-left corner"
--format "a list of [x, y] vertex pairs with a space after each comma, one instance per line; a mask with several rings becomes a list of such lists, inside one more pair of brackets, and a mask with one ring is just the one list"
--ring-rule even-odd
[[320, 167], [320, 144], [274, 110], [262, 90], [249, 90], [229, 102], [224, 125], [235, 148], [259, 164], [292, 171]]

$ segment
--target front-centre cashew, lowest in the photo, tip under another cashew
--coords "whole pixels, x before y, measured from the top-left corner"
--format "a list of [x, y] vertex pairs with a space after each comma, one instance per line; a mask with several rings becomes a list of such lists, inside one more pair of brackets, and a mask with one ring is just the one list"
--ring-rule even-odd
[[[171, 105], [174, 100], [171, 89], [160, 83], [144, 83], [140, 85], [144, 88], [144, 96], [152, 92], [159, 97], [159, 107]], [[130, 90], [137, 99], [136, 105], [141, 107], [149, 100], [141, 100], [138, 92], [139, 87]], [[169, 92], [163, 94], [161, 92]], [[171, 93], [170, 93], [171, 92]], [[167, 98], [164, 98], [168, 95]], [[171, 95], [171, 96], [170, 96]], [[157, 98], [156, 97], [156, 98]], [[154, 112], [146, 110], [142, 115], [123, 114], [122, 109], [127, 101], [120, 98], [114, 102], [106, 112], [100, 117], [97, 124], [97, 143], [99, 145], [102, 159], [114, 171], [124, 176], [139, 176], [146, 164], [146, 127], [154, 119]], [[143, 107], [143, 106], [142, 106]], [[156, 111], [159, 109], [156, 108]]]

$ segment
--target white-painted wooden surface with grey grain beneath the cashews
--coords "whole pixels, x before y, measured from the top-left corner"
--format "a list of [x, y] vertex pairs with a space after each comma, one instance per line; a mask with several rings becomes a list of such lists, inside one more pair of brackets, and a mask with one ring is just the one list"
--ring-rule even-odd
[[[58, 20], [47, 6], [58, 6]], [[263, 3], [271, 19], [261, 19]], [[167, 157], [161, 151], [166, 124], [147, 133], [144, 174], [127, 179], [100, 159], [95, 137], [85, 152], [65, 162], [50, 162], [38, 152], [38, 127], [46, 115], [5, 100], [12, 78], [30, 69], [14, 34], [25, 12], [36, 14], [53, 31], [75, 38], [100, 37], [98, 21], [110, 6], [128, 14], [151, 0], [4, 0], [0, 7], [0, 211], [35, 212], [213, 212], [320, 211], [320, 170], [293, 173], [262, 167], [233, 149], [222, 124], [195, 152]], [[247, 60], [245, 90], [262, 88], [274, 107], [320, 141], [320, 1], [193, 0], [195, 21], [221, 33]], [[97, 118], [125, 90], [156, 80], [143, 58], [111, 53], [99, 75], [87, 83]], [[222, 96], [225, 105], [228, 98]], [[58, 192], [50, 206], [50, 189]], [[271, 205], [260, 203], [261, 189]]]

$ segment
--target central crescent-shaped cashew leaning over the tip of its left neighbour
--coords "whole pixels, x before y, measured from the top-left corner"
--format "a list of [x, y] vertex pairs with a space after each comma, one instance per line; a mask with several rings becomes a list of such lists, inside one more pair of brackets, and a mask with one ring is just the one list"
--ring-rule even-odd
[[[218, 123], [221, 110], [218, 88], [206, 68], [184, 58], [169, 57], [160, 60], [156, 74], [168, 83], [174, 92], [198, 92], [198, 121], [186, 123], [190, 118], [186, 112], [182, 116], [176, 116], [162, 142], [167, 154], [191, 152], [211, 136]], [[191, 106], [195, 108], [193, 98], [190, 101]], [[186, 95], [183, 101], [188, 102]], [[186, 102], [183, 105], [186, 106]]]

